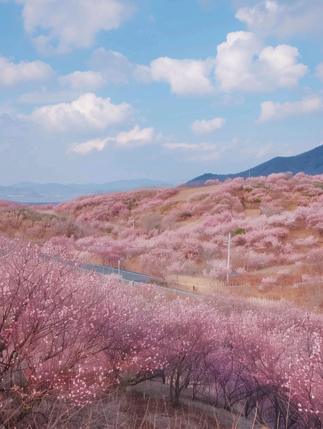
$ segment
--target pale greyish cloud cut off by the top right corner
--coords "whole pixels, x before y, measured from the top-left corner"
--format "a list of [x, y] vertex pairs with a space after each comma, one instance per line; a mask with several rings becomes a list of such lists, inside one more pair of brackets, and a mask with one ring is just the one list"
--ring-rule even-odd
[[246, 23], [248, 29], [262, 36], [286, 37], [299, 33], [322, 34], [322, 14], [321, 0], [266, 0], [252, 8], [239, 9], [236, 18]]

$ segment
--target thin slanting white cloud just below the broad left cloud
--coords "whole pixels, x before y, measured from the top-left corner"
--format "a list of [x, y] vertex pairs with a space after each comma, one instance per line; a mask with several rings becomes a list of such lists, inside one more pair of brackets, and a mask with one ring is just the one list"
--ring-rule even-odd
[[[158, 139], [159, 136], [157, 136]], [[153, 127], [140, 129], [139, 125], [135, 125], [130, 131], [122, 131], [116, 137], [94, 138], [84, 141], [83, 143], [73, 143], [67, 153], [75, 152], [85, 155], [96, 149], [102, 151], [109, 141], [115, 142], [116, 148], [139, 148], [150, 145], [156, 140]]]

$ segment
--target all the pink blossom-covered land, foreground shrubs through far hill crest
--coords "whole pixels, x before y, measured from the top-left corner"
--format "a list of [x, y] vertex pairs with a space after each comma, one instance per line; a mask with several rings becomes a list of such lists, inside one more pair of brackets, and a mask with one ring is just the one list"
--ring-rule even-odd
[[319, 429], [322, 219], [323, 175], [304, 173], [0, 201], [0, 418], [11, 429]]

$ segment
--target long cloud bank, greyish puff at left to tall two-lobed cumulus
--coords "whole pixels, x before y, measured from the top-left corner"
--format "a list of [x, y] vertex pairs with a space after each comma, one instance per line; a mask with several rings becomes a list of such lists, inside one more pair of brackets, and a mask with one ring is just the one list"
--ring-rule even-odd
[[[99, 87], [105, 81], [127, 84], [166, 82], [173, 93], [181, 96], [213, 96], [219, 91], [271, 91], [279, 87], [292, 88], [307, 72], [298, 63], [296, 47], [281, 44], [262, 46], [252, 32], [236, 31], [218, 45], [216, 58], [206, 60], [159, 57], [149, 66], [131, 63], [119, 52], [95, 50], [88, 61], [91, 71], [62, 76], [61, 84], [73, 88]], [[91, 86], [92, 85], [92, 86]]]

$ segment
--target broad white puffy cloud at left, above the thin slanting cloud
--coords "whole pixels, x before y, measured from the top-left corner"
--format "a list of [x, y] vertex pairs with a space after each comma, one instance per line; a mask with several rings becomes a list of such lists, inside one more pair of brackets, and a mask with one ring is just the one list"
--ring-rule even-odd
[[113, 104], [110, 98], [88, 92], [72, 103], [59, 103], [35, 109], [29, 119], [52, 131], [104, 130], [123, 122], [132, 112], [130, 104]]

